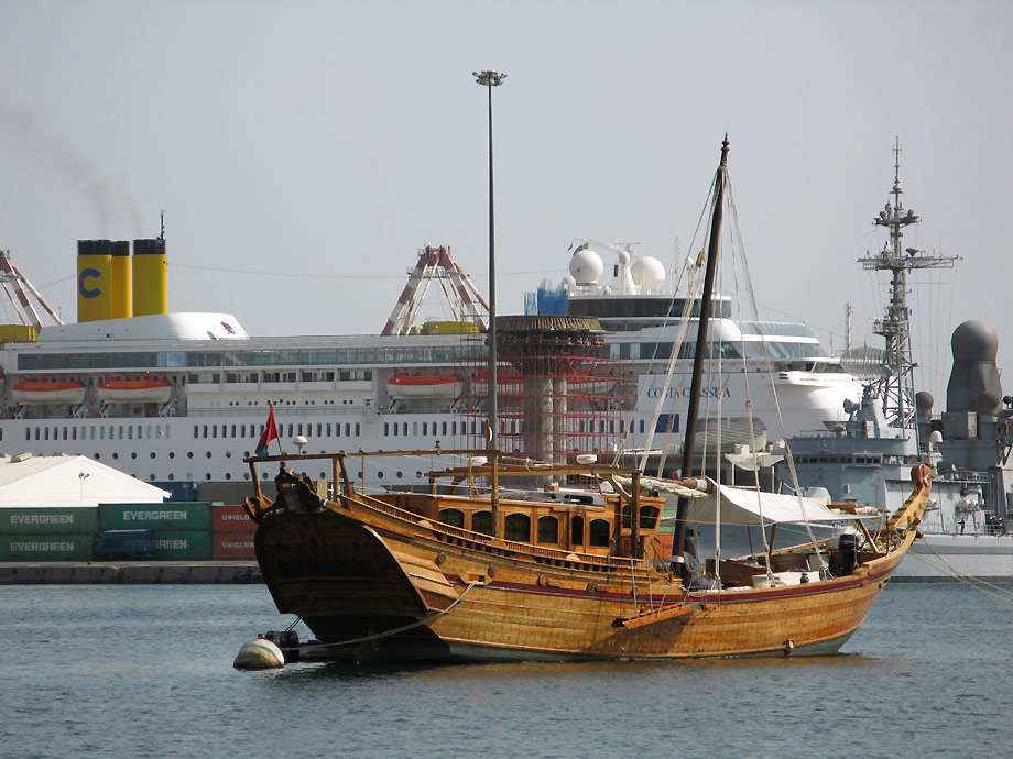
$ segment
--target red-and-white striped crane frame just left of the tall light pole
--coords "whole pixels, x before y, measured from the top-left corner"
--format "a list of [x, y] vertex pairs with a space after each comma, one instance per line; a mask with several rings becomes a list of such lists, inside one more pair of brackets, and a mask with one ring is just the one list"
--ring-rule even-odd
[[[489, 304], [486, 298], [478, 292], [478, 288], [468, 278], [465, 270], [450, 257], [450, 249], [446, 245], [433, 248], [426, 245], [418, 251], [418, 262], [415, 268], [409, 273], [409, 282], [397, 298], [394, 310], [391, 311], [386, 324], [383, 327], [381, 336], [407, 334], [415, 319], [418, 316], [418, 309], [422, 307], [425, 293], [433, 279], [440, 280], [444, 295], [446, 295], [454, 318], [457, 321], [469, 319], [473, 322], [479, 331], [484, 331], [486, 319], [479, 310], [479, 305], [489, 312]], [[449, 279], [454, 295], [447, 292], [443, 280]], [[422, 294], [418, 294], [418, 286], [425, 280]], [[416, 297], [417, 296], [417, 297]], [[456, 297], [454, 297], [456, 296]]]

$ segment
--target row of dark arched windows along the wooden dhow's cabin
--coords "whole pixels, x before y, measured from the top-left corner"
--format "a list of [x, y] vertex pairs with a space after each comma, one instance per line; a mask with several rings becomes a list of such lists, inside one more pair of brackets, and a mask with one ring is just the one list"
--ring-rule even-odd
[[[630, 527], [630, 507], [623, 508], [623, 524]], [[640, 509], [640, 526], [643, 529], [654, 529], [657, 525], [658, 509], [654, 506], [642, 506]], [[492, 512], [475, 512], [471, 514], [470, 527], [465, 524], [465, 513], [457, 508], [445, 508], [439, 512], [439, 520], [470, 529], [472, 532], [492, 535]], [[585, 518], [579, 515], [570, 517], [570, 543], [574, 546], [589, 546], [591, 548], [608, 548], [611, 531], [607, 519], [591, 519], [588, 524], [587, 535], [584, 531]], [[503, 538], [515, 542], [531, 542], [531, 517], [526, 514], [508, 514], [503, 519]], [[538, 517], [535, 542], [544, 546], [559, 544], [559, 519], [553, 516]]]

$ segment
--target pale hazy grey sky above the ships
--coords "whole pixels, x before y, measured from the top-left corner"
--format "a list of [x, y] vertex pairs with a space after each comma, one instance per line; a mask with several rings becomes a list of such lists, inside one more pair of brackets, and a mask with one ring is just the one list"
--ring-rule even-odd
[[851, 301], [880, 345], [886, 276], [856, 260], [900, 138], [905, 245], [962, 256], [914, 279], [938, 399], [966, 319], [1013, 366], [1011, 32], [982, 1], [0, 0], [0, 248], [73, 321], [76, 240], [155, 237], [164, 210], [172, 310], [379, 332], [427, 243], [487, 289], [471, 72], [497, 68], [501, 314], [573, 238], [688, 253], [727, 131], [765, 316], [840, 350]]

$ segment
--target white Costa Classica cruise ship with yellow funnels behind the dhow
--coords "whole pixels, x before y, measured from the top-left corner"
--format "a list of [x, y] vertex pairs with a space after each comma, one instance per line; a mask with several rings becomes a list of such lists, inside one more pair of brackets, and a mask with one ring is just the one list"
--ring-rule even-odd
[[[589, 439], [588, 448], [638, 450], [652, 425], [677, 435], [694, 345], [676, 348], [675, 338], [684, 318], [696, 321], [691, 307], [683, 314], [694, 301], [676, 294], [660, 260], [634, 246], [579, 241], [573, 249], [559, 284], [543, 283], [526, 310], [597, 317], [602, 327], [602, 376], [586, 380], [614, 409], [618, 429]], [[26, 304], [20, 285], [37, 293], [9, 261], [4, 287]], [[424, 486], [428, 462], [411, 451], [459, 447], [481, 435], [475, 398], [484, 392], [478, 367], [486, 314], [449, 249], [425, 246], [415, 264], [381, 334], [253, 337], [230, 314], [167, 312], [164, 235], [134, 241], [132, 255], [129, 243], [79, 241], [78, 323], [40, 323], [15, 339], [4, 333], [0, 450], [87, 455], [177, 497], [203, 485], [205, 497], [232, 502], [247, 494], [251, 474], [242, 459], [273, 405], [286, 452], [405, 451], [384, 468], [363, 460], [356, 474], [394, 488]], [[436, 279], [444, 287], [432, 289], [454, 295], [459, 319], [415, 323], [422, 294]], [[807, 326], [734, 319], [729, 297], [716, 298], [714, 309], [711, 354], [744, 353], [744, 361], [725, 362], [704, 395], [721, 398], [731, 432], [751, 398], [753, 429], [766, 430], [751, 444], [835, 422], [845, 400], [861, 398], [861, 385]], [[673, 351], [675, 380], [666, 381]], [[500, 395], [509, 395], [510, 382], [504, 371]]]

